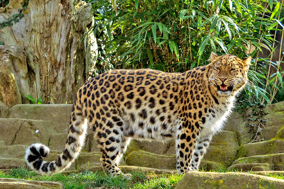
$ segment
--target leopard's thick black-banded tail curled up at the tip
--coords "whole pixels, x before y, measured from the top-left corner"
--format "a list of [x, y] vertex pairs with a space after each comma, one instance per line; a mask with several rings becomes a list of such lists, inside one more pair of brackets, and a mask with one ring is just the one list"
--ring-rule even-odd
[[68, 131], [68, 139], [64, 150], [53, 162], [46, 162], [42, 157], [46, 157], [49, 153], [49, 148], [45, 145], [36, 143], [32, 144], [25, 154], [25, 160], [28, 166], [40, 175], [60, 173], [68, 168], [71, 163], [79, 155], [82, 146], [84, 145], [85, 135], [88, 125], [87, 119], [84, 117], [83, 105], [76, 103], [75, 99], [71, 121]]

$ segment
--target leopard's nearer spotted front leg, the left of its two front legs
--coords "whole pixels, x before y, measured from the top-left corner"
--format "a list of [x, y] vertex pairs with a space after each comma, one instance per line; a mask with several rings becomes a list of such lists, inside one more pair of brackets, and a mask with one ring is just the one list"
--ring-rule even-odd
[[181, 127], [177, 131], [177, 139], [175, 141], [177, 153], [176, 168], [179, 174], [192, 171], [191, 160], [198, 135], [198, 128], [191, 127], [190, 120], [182, 122]]

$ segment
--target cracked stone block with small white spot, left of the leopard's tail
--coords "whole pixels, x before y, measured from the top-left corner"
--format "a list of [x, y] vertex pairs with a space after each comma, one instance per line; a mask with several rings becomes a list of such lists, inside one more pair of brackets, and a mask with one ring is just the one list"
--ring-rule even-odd
[[5, 145], [24, 145], [41, 142], [48, 144], [49, 138], [55, 133], [49, 121], [30, 119], [0, 119], [0, 141]]

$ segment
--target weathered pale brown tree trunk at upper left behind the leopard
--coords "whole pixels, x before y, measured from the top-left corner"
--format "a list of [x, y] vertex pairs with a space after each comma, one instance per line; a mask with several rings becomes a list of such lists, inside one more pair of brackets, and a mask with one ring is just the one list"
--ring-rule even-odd
[[[17, 14], [21, 2], [10, 0], [0, 8], [0, 23]], [[9, 107], [30, 103], [27, 94], [44, 103], [72, 103], [97, 59], [96, 39], [83, 38], [92, 21], [91, 5], [29, 0], [22, 13], [19, 22], [0, 27], [0, 101]]]

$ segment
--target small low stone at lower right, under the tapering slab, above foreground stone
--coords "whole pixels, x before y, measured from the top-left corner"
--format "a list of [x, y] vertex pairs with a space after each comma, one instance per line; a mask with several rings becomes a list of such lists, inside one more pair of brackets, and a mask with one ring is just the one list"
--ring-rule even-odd
[[242, 171], [269, 171], [270, 165], [268, 163], [245, 163], [231, 165], [227, 170], [242, 170]]

